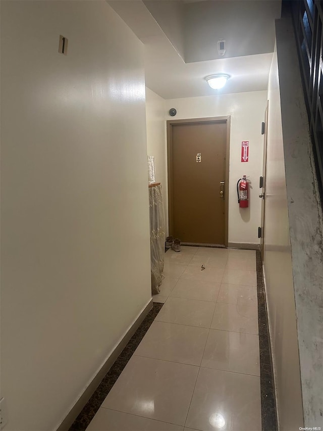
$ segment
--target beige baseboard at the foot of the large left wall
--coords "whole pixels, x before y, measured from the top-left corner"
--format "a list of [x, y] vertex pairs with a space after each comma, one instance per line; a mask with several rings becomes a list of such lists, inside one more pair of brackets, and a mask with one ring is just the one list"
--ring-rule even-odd
[[143, 319], [146, 317], [148, 312], [152, 309], [152, 306], [153, 306], [153, 302], [152, 302], [152, 298], [151, 298], [149, 300], [149, 302], [147, 303], [147, 305], [141, 310], [138, 317], [129, 326], [126, 333], [121, 338], [121, 340], [117, 343], [117, 345], [114, 347], [114, 349], [112, 350], [110, 355], [107, 356], [107, 358], [105, 358], [103, 364], [99, 367], [98, 371], [91, 378], [85, 391], [80, 395], [79, 399], [76, 401], [74, 406], [70, 409], [70, 411], [68, 412], [66, 417], [62, 420], [61, 424], [56, 428], [57, 431], [68, 431], [68, 429], [73, 424], [74, 420], [81, 413], [85, 404], [88, 402], [88, 400], [91, 398], [91, 396], [95, 392], [96, 388], [99, 386], [102, 378], [110, 370], [110, 368], [115, 363], [115, 361], [117, 360], [120, 353], [126, 347], [129, 340], [131, 339], [133, 334], [136, 332], [136, 330], [138, 329], [138, 327], [142, 323]]

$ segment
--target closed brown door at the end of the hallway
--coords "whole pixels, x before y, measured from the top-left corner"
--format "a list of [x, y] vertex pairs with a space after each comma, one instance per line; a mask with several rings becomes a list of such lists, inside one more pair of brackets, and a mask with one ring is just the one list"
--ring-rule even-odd
[[170, 150], [172, 234], [186, 243], [225, 245], [227, 122], [173, 124]]

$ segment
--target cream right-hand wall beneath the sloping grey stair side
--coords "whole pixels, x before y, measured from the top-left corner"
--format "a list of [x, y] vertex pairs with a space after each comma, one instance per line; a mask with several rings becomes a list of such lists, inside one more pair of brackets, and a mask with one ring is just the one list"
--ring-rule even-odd
[[303, 408], [277, 52], [268, 101], [264, 275], [280, 426], [291, 431], [303, 426]]

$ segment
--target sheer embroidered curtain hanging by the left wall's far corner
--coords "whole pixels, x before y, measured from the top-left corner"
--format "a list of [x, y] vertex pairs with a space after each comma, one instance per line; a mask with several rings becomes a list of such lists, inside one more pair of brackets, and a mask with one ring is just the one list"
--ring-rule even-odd
[[151, 293], [160, 292], [165, 259], [165, 214], [161, 185], [149, 187]]

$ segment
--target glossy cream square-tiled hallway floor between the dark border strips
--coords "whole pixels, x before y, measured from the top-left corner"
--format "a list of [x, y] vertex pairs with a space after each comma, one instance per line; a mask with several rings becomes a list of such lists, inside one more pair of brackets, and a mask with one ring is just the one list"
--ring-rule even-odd
[[260, 431], [255, 265], [249, 250], [169, 250], [165, 304], [88, 431]]

